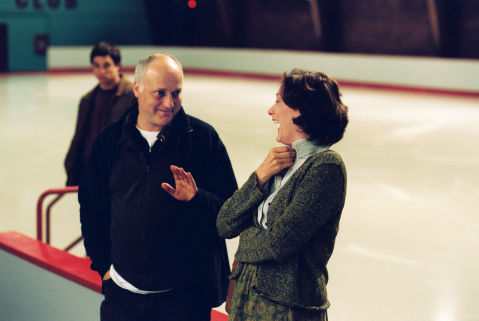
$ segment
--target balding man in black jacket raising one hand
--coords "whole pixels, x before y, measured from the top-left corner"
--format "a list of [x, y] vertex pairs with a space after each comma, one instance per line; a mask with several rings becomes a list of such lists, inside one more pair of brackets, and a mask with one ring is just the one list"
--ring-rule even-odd
[[212, 126], [185, 113], [183, 69], [142, 58], [138, 105], [95, 141], [80, 183], [82, 234], [103, 279], [101, 320], [210, 320], [229, 262], [216, 216], [237, 189]]

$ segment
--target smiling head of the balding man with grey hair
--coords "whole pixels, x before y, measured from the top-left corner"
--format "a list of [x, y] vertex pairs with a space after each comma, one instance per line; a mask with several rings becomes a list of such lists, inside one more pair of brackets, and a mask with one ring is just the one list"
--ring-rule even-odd
[[181, 108], [183, 71], [170, 57], [156, 57], [143, 73], [141, 84], [133, 85], [138, 98], [139, 128], [161, 131]]

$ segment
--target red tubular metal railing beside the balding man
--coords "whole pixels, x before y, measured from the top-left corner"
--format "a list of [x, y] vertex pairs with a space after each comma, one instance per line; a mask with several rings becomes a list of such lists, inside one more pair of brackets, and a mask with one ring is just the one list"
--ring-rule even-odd
[[[43, 242], [43, 202], [45, 198], [49, 195], [55, 195], [55, 197], [48, 203], [46, 206], [46, 216], [45, 216], [45, 243], [50, 244], [50, 234], [51, 234], [51, 209], [65, 194], [77, 193], [78, 186], [62, 187], [62, 188], [52, 188], [43, 192], [37, 201], [37, 240]], [[67, 247], [64, 251], [71, 250], [75, 245], [77, 245], [83, 237], [78, 237]]]

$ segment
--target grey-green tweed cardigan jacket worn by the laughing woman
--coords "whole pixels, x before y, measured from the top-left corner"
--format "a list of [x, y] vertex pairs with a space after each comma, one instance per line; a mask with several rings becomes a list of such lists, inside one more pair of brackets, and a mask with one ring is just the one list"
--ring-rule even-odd
[[268, 229], [257, 220], [266, 194], [256, 173], [229, 198], [217, 218], [221, 237], [240, 235], [235, 258], [256, 264], [253, 290], [283, 305], [310, 310], [329, 307], [326, 264], [333, 252], [346, 195], [346, 169], [334, 151], [305, 161], [269, 205]]

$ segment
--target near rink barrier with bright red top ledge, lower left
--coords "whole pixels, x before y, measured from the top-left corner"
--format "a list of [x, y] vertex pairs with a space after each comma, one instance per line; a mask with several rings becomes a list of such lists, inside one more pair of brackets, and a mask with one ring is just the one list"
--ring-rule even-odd
[[[0, 233], [0, 320], [99, 319], [101, 278], [90, 260], [18, 232]], [[227, 315], [213, 310], [212, 321]]]

